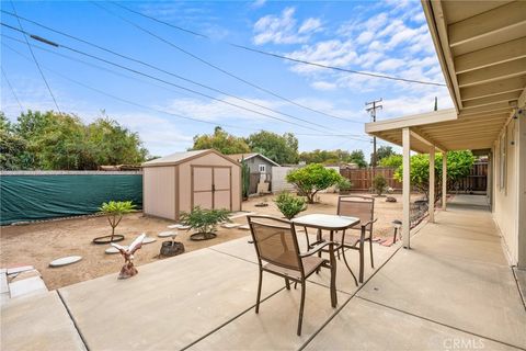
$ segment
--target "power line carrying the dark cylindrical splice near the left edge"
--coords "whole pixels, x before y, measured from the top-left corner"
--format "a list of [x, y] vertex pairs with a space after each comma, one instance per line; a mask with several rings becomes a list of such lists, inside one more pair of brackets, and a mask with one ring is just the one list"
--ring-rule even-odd
[[136, 69], [134, 69], [134, 68], [129, 68], [129, 67], [123, 66], [123, 65], [121, 65], [121, 64], [113, 63], [113, 61], [107, 60], [107, 59], [105, 59], [105, 58], [101, 58], [101, 57], [98, 57], [98, 56], [95, 56], [95, 55], [84, 53], [84, 52], [82, 52], [82, 50], [72, 48], [72, 47], [67, 46], [67, 45], [59, 44], [59, 43], [57, 43], [57, 42], [48, 41], [48, 39], [46, 39], [46, 38], [43, 38], [42, 36], [31, 34], [31, 33], [28, 33], [28, 32], [25, 32], [25, 31], [23, 31], [23, 30], [16, 29], [16, 27], [13, 27], [13, 26], [11, 26], [11, 25], [9, 25], [9, 24], [5, 24], [5, 23], [3, 23], [3, 22], [0, 22], [0, 24], [3, 25], [3, 26], [5, 26], [5, 27], [8, 27], [8, 29], [11, 29], [11, 30], [14, 30], [14, 31], [24, 33], [24, 34], [28, 35], [30, 37], [32, 37], [32, 38], [34, 38], [34, 39], [36, 39], [36, 41], [43, 42], [43, 43], [45, 43], [45, 44], [48, 44], [48, 45], [50, 45], [50, 46], [54, 46], [54, 47], [57, 47], [57, 48], [65, 48], [65, 49], [71, 50], [71, 52], [77, 53], [77, 54], [79, 54], [79, 55], [83, 55], [83, 56], [87, 56], [87, 57], [90, 57], [90, 58], [93, 58], [93, 59], [103, 61], [103, 63], [105, 63], [105, 64], [107, 64], [107, 65], [112, 65], [112, 66], [118, 67], [118, 68], [121, 68], [121, 69], [128, 70], [128, 71], [134, 72], [134, 73], [136, 73], [136, 75], [144, 76], [144, 77], [147, 77], [147, 78], [150, 78], [150, 79], [160, 81], [160, 82], [165, 83], [165, 84], [169, 84], [169, 86], [173, 86], [173, 87], [175, 87], [175, 88], [179, 88], [179, 89], [182, 89], [182, 90], [185, 90], [185, 91], [190, 91], [190, 92], [192, 92], [192, 93], [194, 93], [194, 94], [202, 95], [202, 97], [205, 97], [205, 98], [207, 98], [207, 99], [215, 100], [215, 101], [218, 101], [218, 102], [220, 102], [220, 103], [224, 103], [224, 104], [227, 104], [227, 105], [230, 105], [230, 106], [235, 106], [235, 107], [238, 107], [238, 109], [241, 109], [241, 110], [244, 110], [244, 111], [249, 111], [249, 112], [252, 112], [252, 113], [255, 113], [255, 114], [259, 114], [259, 115], [268, 117], [268, 118], [273, 118], [273, 120], [281, 121], [281, 122], [284, 122], [284, 123], [287, 123], [287, 124], [291, 124], [291, 125], [295, 125], [295, 126], [299, 126], [299, 127], [301, 127], [301, 128], [307, 128], [307, 129], [315, 131], [315, 132], [321, 132], [321, 131], [315, 129], [315, 128], [312, 128], [312, 127], [308, 127], [308, 126], [305, 126], [305, 125], [301, 125], [301, 124], [298, 124], [298, 123], [295, 123], [295, 122], [290, 122], [290, 121], [287, 121], [287, 120], [284, 120], [284, 118], [279, 118], [279, 117], [270, 115], [270, 114], [267, 114], [267, 113], [263, 113], [263, 112], [260, 112], [260, 111], [255, 111], [255, 110], [252, 110], [252, 109], [249, 109], [249, 107], [245, 107], [245, 106], [242, 106], [242, 105], [239, 105], [239, 104], [229, 102], [229, 101], [225, 101], [225, 100], [221, 100], [221, 99], [211, 97], [211, 95], [209, 95], [209, 94], [206, 94], [206, 93], [203, 93], [203, 92], [199, 92], [199, 91], [196, 91], [196, 90], [193, 90], [193, 89], [183, 87], [183, 86], [175, 84], [175, 83], [170, 82], [170, 81], [168, 81], [168, 80], [164, 80], [164, 79], [161, 79], [161, 78], [158, 78], [158, 77], [155, 77], [155, 76], [145, 73], [145, 72], [139, 71], [139, 70], [136, 70]]

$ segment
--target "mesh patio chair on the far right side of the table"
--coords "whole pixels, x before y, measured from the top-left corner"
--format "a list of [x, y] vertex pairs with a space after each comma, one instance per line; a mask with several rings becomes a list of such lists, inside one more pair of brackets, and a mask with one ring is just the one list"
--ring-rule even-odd
[[[370, 252], [370, 267], [375, 268], [375, 261], [373, 258], [373, 224], [377, 220], [375, 216], [375, 197], [359, 196], [359, 195], [345, 195], [338, 199], [338, 215], [358, 217], [359, 225], [343, 230], [342, 237], [338, 242], [336, 250], [342, 251], [343, 260], [348, 271], [354, 278], [356, 285], [356, 276], [354, 275], [351, 267], [348, 265], [347, 258], [345, 257], [345, 249], [357, 250], [359, 252], [359, 283], [364, 282], [364, 259], [365, 259], [365, 242], [369, 242]], [[329, 239], [327, 234], [322, 235], [324, 239]], [[335, 240], [335, 239], [334, 239]]]

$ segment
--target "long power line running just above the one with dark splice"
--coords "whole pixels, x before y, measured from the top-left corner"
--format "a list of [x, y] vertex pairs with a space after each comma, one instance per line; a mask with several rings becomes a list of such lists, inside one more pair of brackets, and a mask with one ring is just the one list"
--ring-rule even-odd
[[[3, 12], [3, 13], [7, 13], [7, 14], [9, 14], [9, 15], [15, 16], [15, 14], [10, 13], [10, 12], [8, 12], [8, 11], [3, 11], [3, 10], [2, 10], [2, 12]], [[248, 100], [248, 99], [243, 99], [243, 98], [233, 95], [233, 94], [231, 94], [231, 93], [225, 92], [225, 91], [222, 91], [222, 90], [219, 90], [219, 89], [216, 89], [216, 88], [206, 86], [206, 84], [204, 84], [204, 83], [199, 83], [199, 82], [197, 82], [197, 81], [195, 81], [195, 80], [192, 80], [192, 79], [190, 79], [190, 78], [185, 78], [185, 77], [180, 76], [180, 75], [178, 75], [178, 73], [168, 71], [168, 70], [165, 70], [165, 69], [162, 69], [162, 68], [159, 68], [159, 67], [153, 66], [153, 65], [151, 65], [151, 64], [148, 64], [148, 63], [146, 63], [146, 61], [142, 61], [142, 60], [140, 60], [140, 59], [136, 59], [136, 58], [133, 58], [133, 57], [129, 57], [129, 56], [119, 54], [119, 53], [117, 53], [117, 52], [115, 52], [115, 50], [112, 50], [112, 49], [110, 49], [110, 48], [106, 48], [106, 47], [100, 46], [100, 45], [98, 45], [98, 44], [88, 42], [88, 41], [85, 41], [85, 39], [76, 37], [76, 36], [73, 36], [73, 35], [70, 35], [70, 34], [60, 32], [60, 31], [58, 31], [58, 30], [54, 30], [54, 29], [52, 29], [52, 27], [49, 27], [49, 26], [39, 24], [39, 23], [37, 23], [37, 22], [35, 22], [35, 21], [32, 21], [32, 20], [22, 18], [22, 16], [18, 16], [18, 18], [19, 18], [19, 19], [22, 19], [22, 20], [24, 20], [24, 21], [26, 21], [26, 22], [33, 23], [33, 24], [35, 24], [35, 25], [38, 25], [38, 26], [41, 26], [41, 27], [43, 27], [43, 29], [45, 29], [45, 30], [48, 30], [48, 31], [52, 31], [52, 32], [54, 32], [54, 33], [64, 35], [64, 36], [66, 36], [66, 37], [72, 38], [72, 39], [78, 41], [78, 42], [80, 42], [80, 43], [90, 45], [90, 46], [92, 46], [92, 47], [95, 47], [95, 48], [98, 48], [98, 49], [100, 49], [100, 50], [103, 50], [103, 52], [110, 53], [110, 54], [112, 54], [112, 55], [118, 56], [118, 57], [121, 57], [121, 58], [124, 58], [124, 59], [127, 59], [127, 60], [130, 60], [130, 61], [140, 64], [140, 65], [142, 65], [142, 66], [146, 66], [146, 67], [151, 68], [151, 69], [155, 69], [155, 70], [157, 70], [157, 71], [167, 73], [167, 75], [172, 76], [172, 77], [175, 77], [175, 78], [178, 78], [178, 79], [184, 80], [184, 81], [190, 82], [190, 83], [192, 83], [192, 84], [195, 84], [195, 86], [198, 86], [198, 87], [202, 87], [202, 88], [205, 88], [205, 89], [208, 89], [208, 90], [211, 90], [211, 91], [215, 91], [215, 92], [225, 94], [225, 95], [227, 95], [227, 97], [230, 97], [230, 98], [233, 98], [233, 99], [243, 101], [243, 102], [245, 102], [245, 103], [255, 105], [255, 106], [258, 106], [258, 107], [261, 107], [261, 109], [264, 109], [264, 110], [267, 110], [267, 111], [271, 111], [271, 112], [274, 112], [274, 113], [277, 113], [277, 114], [287, 116], [287, 117], [290, 117], [290, 118], [293, 118], [293, 120], [301, 121], [301, 122], [305, 122], [305, 123], [308, 123], [308, 124], [311, 124], [311, 125], [315, 125], [315, 126], [318, 126], [318, 127], [321, 127], [321, 128], [331, 131], [330, 128], [328, 128], [328, 127], [324, 126], [324, 125], [321, 125], [321, 124], [318, 124], [318, 123], [313, 123], [313, 122], [310, 122], [310, 121], [305, 120], [305, 118], [296, 117], [296, 116], [294, 116], [294, 115], [291, 115], [291, 114], [284, 113], [284, 112], [281, 112], [281, 111], [278, 111], [278, 110], [275, 110], [275, 109], [271, 109], [271, 107], [268, 107], [268, 106], [265, 106], [265, 105], [263, 105], [263, 104], [260, 104], [260, 103], [250, 101], [250, 100]], [[155, 35], [155, 34], [152, 34], [152, 35]], [[48, 45], [50, 45], [50, 46], [58, 47], [56, 43], [54, 43], [54, 42], [52, 42], [52, 41], [48, 41], [48, 39], [46, 39], [46, 38], [43, 38], [43, 37], [41, 37], [41, 36], [33, 35], [33, 37], [36, 38], [36, 39], [38, 39], [38, 41], [41, 41], [41, 42], [43, 42], [43, 43], [45, 43], [45, 44], [48, 44]], [[346, 121], [347, 121], [347, 120], [346, 120]], [[354, 122], [354, 121], [347, 121], [347, 122], [358, 123], [358, 122]]]

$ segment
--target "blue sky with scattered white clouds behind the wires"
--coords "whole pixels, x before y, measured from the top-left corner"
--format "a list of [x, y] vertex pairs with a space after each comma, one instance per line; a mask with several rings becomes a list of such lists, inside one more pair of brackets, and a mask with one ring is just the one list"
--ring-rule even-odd
[[[152, 155], [162, 156], [184, 150], [192, 146], [194, 135], [210, 133], [213, 124], [216, 123], [228, 125], [225, 129], [238, 136], [248, 136], [258, 129], [279, 134], [291, 132], [298, 136], [300, 150], [342, 148], [363, 149], [368, 154], [371, 145], [363, 132], [363, 123], [369, 121], [365, 112], [366, 101], [384, 99], [384, 110], [378, 112], [378, 120], [430, 111], [433, 109], [434, 97], [438, 97], [441, 109], [451, 106], [447, 89], [443, 87], [336, 72], [240, 50], [228, 45], [237, 43], [331, 66], [444, 82], [419, 1], [122, 3], [159, 20], [206, 34], [209, 38], [176, 31], [108, 2], [98, 2], [99, 5], [95, 5], [84, 1], [16, 1], [14, 7], [21, 16], [244, 100], [191, 84], [22, 21], [23, 29], [32, 34], [217, 99], [182, 91], [67, 49], [45, 46], [30, 39], [30, 43], [47, 49], [34, 48], [34, 53], [61, 111], [75, 113], [89, 122], [100, 116], [101, 110], [104, 110], [110, 117], [138, 132]], [[11, 2], [2, 1], [1, 7], [4, 11], [13, 12]], [[115, 14], [298, 104], [354, 122], [317, 114], [249, 87], [203, 65]], [[19, 27], [15, 18], [9, 14], [2, 13], [1, 20], [2, 23]], [[5, 27], [1, 31], [2, 35], [23, 41], [21, 33]], [[27, 46], [5, 36], [2, 36], [1, 42], [2, 69], [22, 106], [56, 110], [35, 64], [31, 60]], [[53, 53], [80, 59], [89, 65]], [[72, 80], [132, 101], [145, 109], [100, 94]], [[1, 87], [2, 111], [10, 118], [14, 118], [20, 113], [20, 106], [3, 76]], [[318, 126], [263, 110], [247, 101]], [[258, 115], [228, 103], [288, 120], [305, 127]], [[213, 124], [179, 118], [174, 114]], [[327, 136], [328, 134], [359, 137]]]

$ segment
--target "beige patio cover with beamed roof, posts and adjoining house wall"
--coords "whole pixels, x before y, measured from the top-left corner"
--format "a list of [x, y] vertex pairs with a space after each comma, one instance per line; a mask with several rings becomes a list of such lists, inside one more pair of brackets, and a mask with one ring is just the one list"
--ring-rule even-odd
[[[526, 2], [438, 0], [422, 5], [455, 106], [365, 126], [366, 133], [403, 148], [404, 246], [410, 247], [410, 151], [430, 154], [433, 174], [436, 150], [471, 149], [490, 157], [494, 218], [512, 262], [526, 267]], [[445, 158], [443, 162], [447, 172]], [[433, 181], [431, 177], [430, 199]], [[445, 191], [446, 183], [442, 185]], [[431, 222], [433, 211], [430, 202]]]

